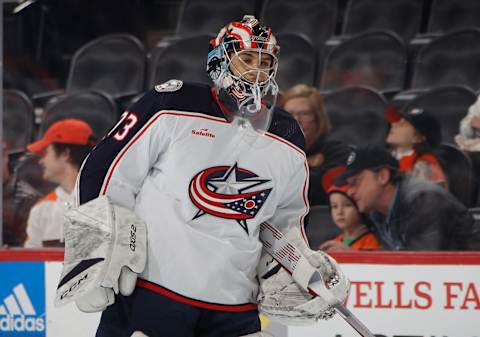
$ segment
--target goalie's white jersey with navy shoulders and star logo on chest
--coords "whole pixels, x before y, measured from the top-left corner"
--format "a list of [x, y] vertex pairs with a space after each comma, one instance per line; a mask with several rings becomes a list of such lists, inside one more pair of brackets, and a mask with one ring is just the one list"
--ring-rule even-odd
[[276, 109], [264, 135], [225, 119], [208, 86], [169, 81], [91, 152], [78, 200], [107, 194], [146, 223], [139, 286], [215, 310], [255, 308], [259, 226], [301, 226], [308, 166], [298, 124]]

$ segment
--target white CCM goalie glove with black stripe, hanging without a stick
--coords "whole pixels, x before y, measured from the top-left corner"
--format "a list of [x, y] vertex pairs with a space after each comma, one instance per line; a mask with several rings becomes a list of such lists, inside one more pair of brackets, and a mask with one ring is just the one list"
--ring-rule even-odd
[[145, 268], [146, 225], [132, 211], [100, 196], [65, 214], [65, 258], [55, 305], [75, 301], [102, 311], [115, 295], [128, 296]]

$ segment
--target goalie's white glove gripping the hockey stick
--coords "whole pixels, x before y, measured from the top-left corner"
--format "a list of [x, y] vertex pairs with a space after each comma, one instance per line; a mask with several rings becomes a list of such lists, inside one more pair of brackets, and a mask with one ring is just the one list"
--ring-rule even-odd
[[[298, 262], [295, 278], [305, 279], [310, 275], [311, 267], [314, 267], [326, 281], [333, 297], [343, 302], [348, 295], [350, 282], [336, 261], [323, 252], [308, 248], [298, 228], [290, 230], [285, 237], [302, 252], [301, 259], [306, 260]], [[304, 263], [308, 263], [309, 268], [302, 267]], [[309, 325], [335, 314], [331, 303], [320, 296], [311, 295], [306, 284], [297, 283], [268, 253], [265, 252], [261, 257], [257, 272], [260, 281], [258, 308], [272, 320], [287, 325]], [[302, 273], [305, 273], [305, 277]]]

